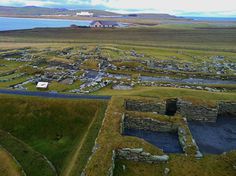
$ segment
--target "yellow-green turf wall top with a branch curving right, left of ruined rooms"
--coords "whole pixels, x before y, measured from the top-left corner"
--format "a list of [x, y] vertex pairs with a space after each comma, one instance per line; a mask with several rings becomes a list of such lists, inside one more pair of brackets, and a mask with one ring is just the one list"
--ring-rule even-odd
[[99, 146], [86, 166], [86, 175], [107, 175], [111, 167], [112, 151], [116, 148], [140, 148], [152, 154], [163, 154], [159, 148], [136, 137], [120, 134], [120, 120], [124, 113], [124, 98], [114, 96], [108, 104], [104, 123], [97, 139]]

